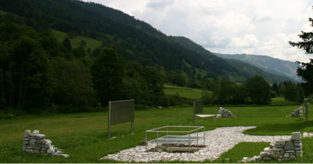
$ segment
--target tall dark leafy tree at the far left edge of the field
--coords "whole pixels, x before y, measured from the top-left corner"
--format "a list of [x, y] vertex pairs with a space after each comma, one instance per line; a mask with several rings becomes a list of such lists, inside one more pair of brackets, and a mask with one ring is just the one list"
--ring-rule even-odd
[[0, 24], [0, 95], [4, 108], [46, 106], [51, 97], [52, 69], [31, 28]]

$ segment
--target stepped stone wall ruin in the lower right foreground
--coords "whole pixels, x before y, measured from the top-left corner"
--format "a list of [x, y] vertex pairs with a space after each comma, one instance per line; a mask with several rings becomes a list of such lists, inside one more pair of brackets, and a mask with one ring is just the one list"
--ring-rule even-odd
[[291, 139], [276, 140], [270, 147], [266, 147], [259, 156], [252, 158], [243, 157], [239, 162], [266, 162], [274, 159], [275, 161], [296, 160], [296, 157], [303, 156], [301, 133], [291, 133]]

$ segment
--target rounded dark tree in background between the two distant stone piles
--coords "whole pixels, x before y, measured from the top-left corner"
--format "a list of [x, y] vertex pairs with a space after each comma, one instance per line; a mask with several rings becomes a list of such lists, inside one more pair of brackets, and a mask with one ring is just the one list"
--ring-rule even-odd
[[262, 76], [247, 79], [245, 85], [252, 104], [271, 104], [271, 85]]

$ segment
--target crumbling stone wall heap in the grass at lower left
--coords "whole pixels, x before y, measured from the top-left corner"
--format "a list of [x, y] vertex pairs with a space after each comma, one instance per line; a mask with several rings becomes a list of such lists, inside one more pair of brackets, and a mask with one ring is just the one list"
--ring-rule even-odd
[[58, 150], [51, 143], [52, 141], [46, 139], [45, 135], [39, 134], [39, 131], [31, 133], [30, 130], [26, 130], [24, 133], [23, 152], [24, 154], [50, 154], [51, 156], [64, 156], [65, 158], [69, 156], [63, 154], [61, 149]]

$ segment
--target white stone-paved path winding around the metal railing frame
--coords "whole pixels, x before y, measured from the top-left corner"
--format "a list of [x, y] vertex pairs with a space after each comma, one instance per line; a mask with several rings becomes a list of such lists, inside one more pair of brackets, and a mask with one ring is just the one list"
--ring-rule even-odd
[[[146, 152], [145, 146], [131, 147], [120, 151], [118, 154], [109, 154], [101, 159], [113, 159], [115, 161], [134, 161], [134, 162], [152, 162], [152, 161], [213, 161], [221, 154], [232, 149], [234, 145], [240, 142], [273, 142], [282, 138], [290, 139], [291, 136], [250, 136], [243, 134], [243, 131], [254, 129], [256, 126], [234, 126], [220, 127], [213, 131], [205, 131], [205, 146], [195, 153], [168, 153], [168, 152]], [[196, 136], [193, 133], [191, 136]], [[199, 137], [203, 133], [199, 133]], [[193, 145], [193, 144], [191, 144]], [[199, 140], [199, 145], [203, 145], [203, 139]], [[156, 144], [148, 144], [148, 149], [157, 147]]]

